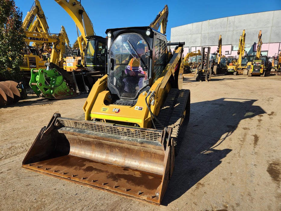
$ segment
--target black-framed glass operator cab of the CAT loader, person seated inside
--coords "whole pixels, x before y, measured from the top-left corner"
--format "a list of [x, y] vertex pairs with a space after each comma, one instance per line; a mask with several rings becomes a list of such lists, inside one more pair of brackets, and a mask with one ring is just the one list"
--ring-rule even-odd
[[166, 67], [166, 37], [150, 27], [108, 29], [106, 33], [110, 46], [108, 88], [118, 99], [136, 101]]

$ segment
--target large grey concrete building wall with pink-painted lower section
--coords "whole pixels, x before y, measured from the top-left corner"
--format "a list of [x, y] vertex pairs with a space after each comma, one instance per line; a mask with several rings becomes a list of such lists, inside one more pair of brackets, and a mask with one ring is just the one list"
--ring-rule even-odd
[[245, 29], [245, 50], [255, 54], [258, 33], [262, 33], [262, 53], [273, 56], [281, 50], [281, 10], [259, 12], [187, 24], [171, 28], [171, 42], [185, 42], [184, 54], [210, 46], [217, 50], [219, 36], [222, 37], [222, 53], [237, 55], [239, 38]]

